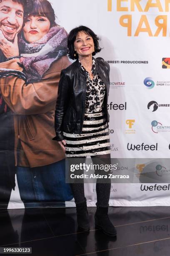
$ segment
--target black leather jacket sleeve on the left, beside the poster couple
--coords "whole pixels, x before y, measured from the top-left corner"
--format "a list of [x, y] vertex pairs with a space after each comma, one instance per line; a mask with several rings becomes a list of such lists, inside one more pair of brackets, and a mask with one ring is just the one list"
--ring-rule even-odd
[[64, 71], [61, 72], [60, 75], [60, 82], [58, 85], [58, 97], [55, 106], [55, 133], [56, 137], [53, 138], [55, 141], [62, 141], [64, 139], [62, 134], [62, 125], [63, 125], [63, 118], [65, 112], [67, 110], [68, 102], [69, 102], [69, 82]]

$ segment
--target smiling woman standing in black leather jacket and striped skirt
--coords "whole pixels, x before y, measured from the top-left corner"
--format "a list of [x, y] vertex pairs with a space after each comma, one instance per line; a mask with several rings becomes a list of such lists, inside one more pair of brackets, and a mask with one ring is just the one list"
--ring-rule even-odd
[[[67, 43], [69, 55], [77, 60], [61, 72], [55, 110], [55, 139], [65, 150], [66, 157], [90, 155], [93, 163], [100, 159], [110, 161], [107, 128], [110, 68], [104, 61], [92, 57], [101, 50], [98, 40], [95, 33], [85, 26], [70, 31]], [[71, 185], [78, 226], [89, 230], [84, 184]], [[110, 182], [96, 183], [95, 225], [104, 233], [115, 236], [115, 227], [107, 215], [110, 186]]]

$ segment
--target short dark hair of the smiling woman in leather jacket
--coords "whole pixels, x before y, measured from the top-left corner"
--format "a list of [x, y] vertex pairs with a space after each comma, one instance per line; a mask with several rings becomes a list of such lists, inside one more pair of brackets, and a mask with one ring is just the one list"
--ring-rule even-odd
[[[79, 32], [84, 32], [88, 36], [92, 37], [95, 45], [95, 51], [92, 53], [92, 56], [94, 56], [97, 52], [101, 51], [101, 48], [98, 42], [100, 38], [90, 28], [87, 28], [85, 26], [79, 26], [79, 27], [73, 28], [68, 35], [67, 47], [68, 47], [68, 55], [70, 59], [78, 59], [78, 54], [74, 50], [74, 42]], [[76, 53], [76, 56], [74, 56], [75, 53]]]

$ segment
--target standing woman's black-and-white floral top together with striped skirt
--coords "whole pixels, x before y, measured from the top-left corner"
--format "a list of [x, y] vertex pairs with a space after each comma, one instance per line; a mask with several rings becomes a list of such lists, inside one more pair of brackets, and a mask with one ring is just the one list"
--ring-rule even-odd
[[[66, 157], [81, 157], [110, 154], [110, 138], [106, 119], [103, 112], [103, 100], [105, 97], [105, 84], [98, 74], [90, 79], [90, 74], [82, 66], [87, 74], [87, 90], [85, 102], [85, 116], [82, 133], [63, 132], [66, 142]], [[95, 70], [95, 59], [92, 59], [92, 70]]]

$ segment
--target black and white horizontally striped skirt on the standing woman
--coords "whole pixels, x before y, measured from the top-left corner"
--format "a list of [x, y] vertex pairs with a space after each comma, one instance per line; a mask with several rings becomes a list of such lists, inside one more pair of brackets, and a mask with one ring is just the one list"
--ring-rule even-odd
[[110, 154], [110, 137], [102, 112], [85, 113], [82, 133], [63, 132], [66, 157]]

